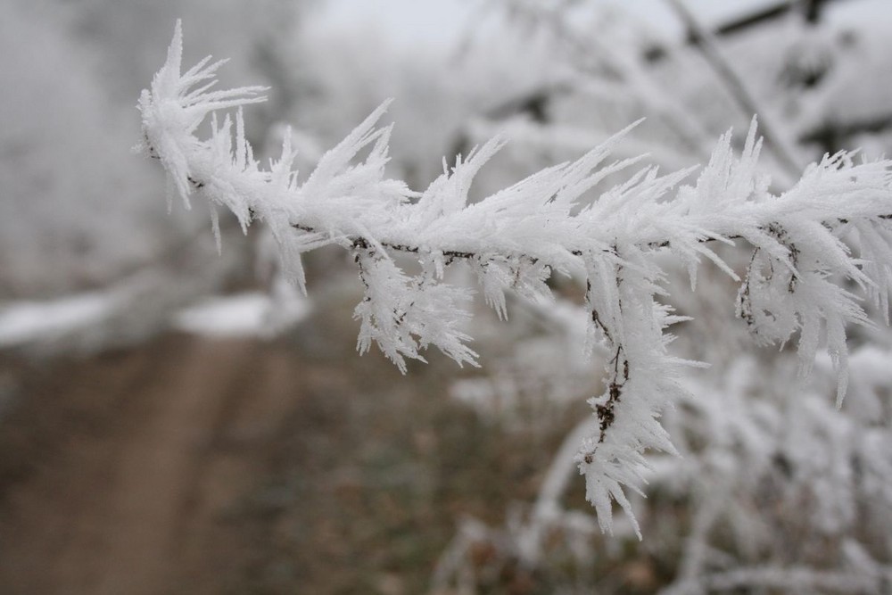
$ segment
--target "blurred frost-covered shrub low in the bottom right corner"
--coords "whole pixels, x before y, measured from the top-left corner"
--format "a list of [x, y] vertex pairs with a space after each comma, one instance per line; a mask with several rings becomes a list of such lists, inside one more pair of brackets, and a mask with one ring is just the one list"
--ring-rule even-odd
[[[689, 376], [664, 425], [681, 457], [650, 457], [647, 499], [632, 499], [643, 543], [615, 524], [605, 539], [573, 503], [567, 437], [529, 507], [492, 527], [467, 519], [434, 573], [434, 592], [479, 592], [525, 572], [552, 592], [884, 593], [892, 578], [892, 376], [888, 348], [853, 351], [842, 409], [830, 360], [813, 382], [743, 352]], [[475, 557], [486, 549], [491, 556]], [[464, 591], [462, 591], [464, 590]]]

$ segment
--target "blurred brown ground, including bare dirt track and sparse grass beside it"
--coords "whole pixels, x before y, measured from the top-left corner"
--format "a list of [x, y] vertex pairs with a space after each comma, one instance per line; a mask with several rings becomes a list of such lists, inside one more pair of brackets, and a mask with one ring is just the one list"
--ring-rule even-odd
[[559, 429], [308, 340], [0, 359], [0, 592], [423, 592], [458, 518], [531, 500]]

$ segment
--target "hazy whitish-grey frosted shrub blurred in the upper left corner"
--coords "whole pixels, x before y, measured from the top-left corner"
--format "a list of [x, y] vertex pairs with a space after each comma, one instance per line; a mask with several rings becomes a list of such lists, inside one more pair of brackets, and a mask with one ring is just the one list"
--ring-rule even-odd
[[91, 66], [55, 19], [4, 3], [0, 300], [107, 284], [185, 227], [153, 217], [156, 172], [123, 151], [138, 128]]

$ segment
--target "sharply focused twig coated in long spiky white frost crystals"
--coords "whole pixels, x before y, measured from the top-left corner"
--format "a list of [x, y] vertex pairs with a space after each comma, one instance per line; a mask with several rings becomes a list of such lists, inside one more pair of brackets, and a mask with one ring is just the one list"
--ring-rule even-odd
[[[591, 400], [598, 427], [577, 457], [604, 529], [611, 526], [612, 500], [631, 512], [624, 486], [638, 489], [643, 481], [644, 451], [673, 451], [659, 417], [686, 394], [679, 379], [691, 362], [668, 351], [672, 335], [665, 329], [680, 318], [663, 303], [665, 272], [655, 255], [680, 259], [691, 285], [703, 258], [739, 280], [739, 316], [763, 343], [783, 344], [798, 333], [803, 371], [826, 335], [839, 399], [847, 385], [846, 326], [869, 324], [855, 294], [840, 283], [849, 280], [888, 307], [890, 161], [826, 156], [775, 195], [756, 169], [755, 122], [742, 154], [731, 150], [730, 134], [723, 136], [689, 185], [683, 182], [690, 169], [661, 175], [640, 166], [641, 158], [609, 161], [621, 132], [577, 161], [471, 202], [472, 180], [500, 140], [452, 167], [444, 164], [431, 186], [413, 192], [384, 175], [391, 128], [376, 128], [384, 104], [301, 182], [288, 135], [281, 157], [261, 169], [245, 140], [241, 109], [235, 120], [216, 115], [261, 101], [264, 89], [211, 90], [222, 62], [205, 59], [184, 73], [181, 55], [178, 25], [167, 62], [140, 98], [143, 153], [161, 161], [186, 206], [198, 195], [233, 211], [243, 227], [264, 221], [301, 288], [302, 252], [326, 244], [351, 252], [365, 289], [354, 312], [360, 351], [376, 343], [405, 370], [406, 359], [423, 360], [421, 351], [434, 345], [459, 364], [475, 365], [464, 331], [471, 293], [447, 283], [447, 269], [465, 263], [501, 317], [507, 316], [506, 292], [547, 299], [549, 276], [583, 271], [587, 314], [579, 324], [588, 328], [590, 344], [603, 342], [613, 354], [607, 389]], [[202, 140], [195, 131], [209, 115], [211, 136]], [[634, 166], [624, 183], [586, 200], [607, 176]], [[754, 249], [742, 280], [712, 248], [735, 241]], [[420, 272], [403, 269], [392, 258], [396, 252], [413, 256]]]

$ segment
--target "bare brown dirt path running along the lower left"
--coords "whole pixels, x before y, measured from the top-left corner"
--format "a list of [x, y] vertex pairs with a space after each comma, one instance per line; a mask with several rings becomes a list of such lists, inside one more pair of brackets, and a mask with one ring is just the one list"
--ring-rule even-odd
[[294, 365], [168, 337], [30, 370], [0, 436], [0, 592], [225, 592], [245, 559], [226, 511], [260, 471], [252, 440], [295, 398]]

